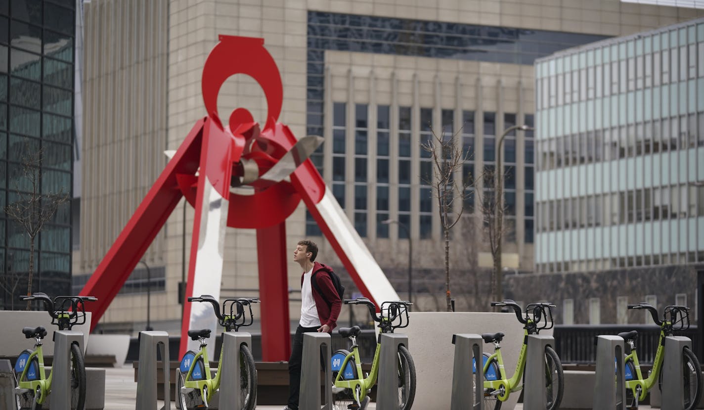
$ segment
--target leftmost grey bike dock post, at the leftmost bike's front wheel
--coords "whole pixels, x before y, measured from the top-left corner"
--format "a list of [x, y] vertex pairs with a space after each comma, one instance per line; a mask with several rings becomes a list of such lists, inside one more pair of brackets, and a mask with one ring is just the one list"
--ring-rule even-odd
[[83, 352], [83, 333], [74, 330], [54, 332], [54, 364], [51, 366], [51, 406], [71, 408], [71, 344]]

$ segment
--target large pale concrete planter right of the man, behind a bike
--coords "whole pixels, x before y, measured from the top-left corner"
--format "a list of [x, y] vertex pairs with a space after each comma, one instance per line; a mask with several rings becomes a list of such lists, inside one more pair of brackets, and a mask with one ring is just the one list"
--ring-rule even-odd
[[[514, 366], [523, 342], [523, 325], [514, 313], [483, 312], [413, 312], [408, 328], [398, 333], [408, 335], [408, 349], [415, 362], [417, 387], [413, 408], [449, 409], [452, 395], [452, 376], [455, 333], [505, 333], [501, 353], [508, 376]], [[543, 331], [544, 332], [544, 331]], [[549, 333], [546, 333], [549, 334]], [[494, 352], [493, 344], [484, 344], [484, 352]], [[468, 387], [472, 387], [467, 380]], [[513, 410], [520, 392], [510, 395], [501, 409]]]

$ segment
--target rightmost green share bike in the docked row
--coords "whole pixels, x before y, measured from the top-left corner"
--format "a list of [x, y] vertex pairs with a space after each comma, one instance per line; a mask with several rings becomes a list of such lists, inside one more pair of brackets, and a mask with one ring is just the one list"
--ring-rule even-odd
[[[629, 304], [628, 309], [646, 309], [653, 316], [653, 321], [660, 326], [660, 339], [658, 340], [658, 351], [655, 353], [653, 368], [648, 374], [648, 378], [643, 378], [641, 365], [638, 361], [635, 341], [638, 339], [638, 331], [619, 333], [626, 344], [624, 361], [624, 380], [626, 383], [626, 405], [627, 409], [638, 409], [639, 402], [646, 399], [648, 392], [655, 386], [655, 380], [662, 390], [662, 360], [665, 359], [665, 337], [674, 335], [679, 330], [689, 329], [689, 308], [686, 306], [666, 306], [662, 320], [658, 315], [655, 306], [642, 302], [640, 304]], [[699, 402], [702, 395], [702, 369], [699, 361], [694, 356], [691, 349], [685, 347], [682, 351], [682, 383], [684, 383], [684, 409], [692, 410]]]

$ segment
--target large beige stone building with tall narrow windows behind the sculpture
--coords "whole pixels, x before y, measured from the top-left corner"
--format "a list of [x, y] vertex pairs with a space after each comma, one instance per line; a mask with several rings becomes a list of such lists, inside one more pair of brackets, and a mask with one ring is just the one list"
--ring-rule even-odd
[[[279, 120], [295, 135], [325, 137], [313, 161], [400, 294], [407, 290], [410, 235], [418, 307], [433, 310], [444, 305], [437, 274], [441, 228], [432, 188], [422, 178], [431, 163], [420, 144], [433, 132], [453, 135], [470, 154], [456, 177], [470, 171], [482, 175], [496, 165], [495, 144], [503, 130], [534, 122], [536, 58], [700, 14], [615, 0], [93, 0], [85, 11], [77, 288], [163, 169], [162, 151], [178, 147], [205, 115], [201, 70], [218, 35], [239, 35], [265, 40], [284, 85]], [[232, 77], [220, 92], [220, 113], [238, 106], [263, 119], [263, 93], [247, 77]], [[534, 136], [510, 135], [502, 148], [510, 221], [505, 266], [532, 271]], [[473, 198], [474, 190], [484, 189], [482, 178], [476, 178], [465, 207], [475, 218], [467, 220], [481, 217]], [[187, 269], [192, 218], [188, 206], [173, 213], [101, 319], [103, 330], [144, 327], [148, 283], [152, 322], [164, 330], [179, 328], [178, 287]], [[469, 309], [476, 299], [468, 272], [491, 265], [482, 232], [470, 229], [453, 233], [459, 309]], [[317, 241], [319, 259], [346, 276], [303, 206], [287, 221], [287, 235], [289, 249], [302, 237]], [[253, 231], [228, 231], [223, 295], [265, 291], [258, 289], [255, 246]], [[293, 321], [298, 320], [298, 270], [289, 264]]]

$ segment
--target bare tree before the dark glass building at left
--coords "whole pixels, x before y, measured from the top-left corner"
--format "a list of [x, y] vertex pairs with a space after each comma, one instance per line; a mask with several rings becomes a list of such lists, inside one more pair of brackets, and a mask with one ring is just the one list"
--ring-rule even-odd
[[[61, 204], [68, 201], [68, 194], [60, 192], [42, 193], [42, 160], [44, 147], [32, 152], [29, 144], [25, 144], [22, 156], [23, 175], [18, 178], [15, 186], [18, 200], [5, 206], [5, 213], [9, 218], [25, 229], [30, 237], [30, 263], [27, 270], [27, 295], [32, 293], [32, 277], [34, 275], [34, 240], [44, 228], [44, 223], [51, 220]], [[20, 183], [21, 180], [26, 185]], [[15, 285], [16, 287], [16, 285]], [[14, 291], [14, 288], [13, 288]], [[30, 310], [30, 301], [27, 301], [27, 310]]]

